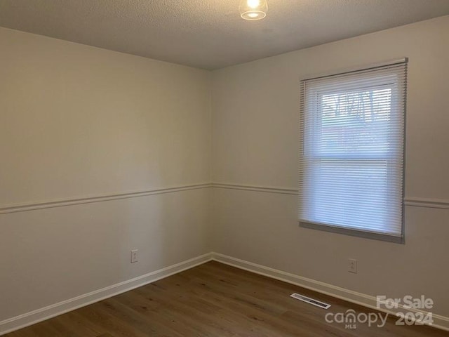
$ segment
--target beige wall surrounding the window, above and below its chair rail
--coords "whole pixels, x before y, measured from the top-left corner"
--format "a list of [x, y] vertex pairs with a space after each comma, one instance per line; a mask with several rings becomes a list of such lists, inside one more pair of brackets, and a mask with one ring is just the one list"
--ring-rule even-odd
[[[406, 198], [449, 199], [449, 16], [213, 72], [213, 181], [297, 188], [299, 80], [408, 57]], [[424, 293], [449, 316], [449, 209], [406, 207], [406, 244], [297, 225], [297, 197], [215, 188], [213, 248], [372, 296]], [[347, 259], [358, 260], [358, 274]]]

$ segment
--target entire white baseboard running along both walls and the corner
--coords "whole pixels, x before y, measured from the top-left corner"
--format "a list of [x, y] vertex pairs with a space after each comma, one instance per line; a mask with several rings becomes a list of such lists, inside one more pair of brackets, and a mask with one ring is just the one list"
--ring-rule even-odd
[[[271, 277], [273, 279], [279, 279], [280, 281], [295, 284], [297, 286], [302, 286], [303, 288], [317, 291], [319, 293], [324, 293], [326, 295], [340, 298], [342, 300], [347, 300], [348, 302], [363, 305], [367, 308], [379, 310], [376, 308], [376, 298], [374, 296], [369, 296], [364, 293], [357, 293], [356, 291], [344, 289], [339, 286], [333, 286], [332, 284], [315, 281], [314, 279], [308, 279], [306, 277], [293, 275], [288, 272], [276, 270], [271, 267], [265, 267], [264, 265], [257, 265], [256, 263], [241, 260], [239, 258], [233, 258], [231, 256], [225, 256], [220, 253], [206, 253], [204, 255], [197, 256], [196, 258], [191, 258], [189, 260], [176, 263], [175, 265], [170, 265], [154, 272], [149, 272], [146, 275], [129, 279], [125, 282], [107, 286], [103, 289], [98, 289], [96, 291], [92, 291], [91, 293], [76, 296], [74, 298], [70, 298], [69, 300], [64, 300], [60, 303], [48, 305], [48, 307], [45, 308], [27, 312], [23, 315], [12, 317], [10, 319], [5, 319], [4, 321], [0, 322], [0, 336], [18, 329], [25, 328], [25, 326], [36, 324], [46, 319], [62, 315], [65, 312], [76, 310], [100, 300], [116, 296], [119, 293], [124, 293], [140, 286], [144, 286], [145, 284], [156, 282], [159, 279], [177, 274], [178, 272], [196, 267], [197, 265], [202, 265], [203, 263], [206, 263], [210, 260], [215, 260], [217, 262], [232, 265], [243, 270], [248, 270], [249, 272], [255, 272], [256, 274]], [[401, 310], [411, 311], [408, 309], [406, 310], [405, 308], [398, 308], [396, 312]], [[395, 312], [391, 310], [382, 309], [381, 311], [396, 315]], [[427, 314], [427, 312], [423, 313], [424, 315]], [[449, 317], [435, 314], [433, 314], [432, 316], [434, 319], [434, 324], [432, 326], [437, 329], [449, 331]]]

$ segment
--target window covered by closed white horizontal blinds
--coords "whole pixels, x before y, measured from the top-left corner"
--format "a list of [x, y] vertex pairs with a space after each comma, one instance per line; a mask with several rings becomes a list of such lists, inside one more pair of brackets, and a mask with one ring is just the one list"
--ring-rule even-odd
[[300, 225], [403, 242], [407, 60], [301, 81]]

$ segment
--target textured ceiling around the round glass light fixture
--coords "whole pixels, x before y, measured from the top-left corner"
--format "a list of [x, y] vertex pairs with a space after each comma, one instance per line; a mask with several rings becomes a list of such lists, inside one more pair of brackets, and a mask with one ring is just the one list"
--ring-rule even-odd
[[449, 0], [0, 0], [0, 26], [205, 69], [449, 14]]

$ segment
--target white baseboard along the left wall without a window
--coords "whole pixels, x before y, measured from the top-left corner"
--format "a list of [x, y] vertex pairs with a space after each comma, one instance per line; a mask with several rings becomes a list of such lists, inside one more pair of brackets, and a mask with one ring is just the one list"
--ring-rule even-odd
[[191, 258], [189, 260], [176, 263], [175, 265], [170, 265], [168, 267], [155, 270], [154, 272], [149, 272], [146, 275], [128, 279], [125, 282], [113, 284], [112, 286], [107, 286], [103, 289], [92, 291], [91, 293], [86, 293], [81, 296], [70, 298], [69, 300], [64, 300], [60, 303], [48, 305], [48, 307], [45, 308], [27, 312], [23, 315], [12, 317], [10, 319], [5, 319], [4, 321], [0, 322], [0, 336], [18, 329], [25, 328], [25, 326], [36, 324], [46, 319], [62, 315], [65, 312], [69, 312], [98, 302], [100, 300], [104, 300], [105, 298], [116, 296], [119, 293], [130, 291], [132, 289], [138, 288], [139, 286], [144, 286], [145, 284], [156, 282], [159, 279], [177, 274], [178, 272], [196, 267], [197, 265], [202, 265], [203, 263], [206, 263], [210, 260], [212, 260], [212, 254], [207, 253], [201, 256], [197, 256], [196, 258]]

